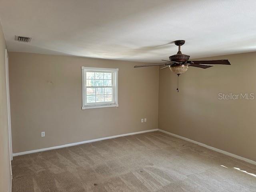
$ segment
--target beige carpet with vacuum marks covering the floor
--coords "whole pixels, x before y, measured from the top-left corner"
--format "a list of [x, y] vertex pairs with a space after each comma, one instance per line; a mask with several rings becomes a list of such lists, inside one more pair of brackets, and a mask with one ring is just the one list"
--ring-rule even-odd
[[14, 157], [12, 171], [12, 192], [256, 192], [255, 165], [162, 132]]

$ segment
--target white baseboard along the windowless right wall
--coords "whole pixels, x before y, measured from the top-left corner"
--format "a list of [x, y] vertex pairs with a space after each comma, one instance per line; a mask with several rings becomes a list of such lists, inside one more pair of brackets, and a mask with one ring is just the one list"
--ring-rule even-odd
[[214, 151], [216, 151], [216, 152], [219, 152], [219, 153], [222, 153], [222, 154], [225, 154], [225, 155], [228, 155], [228, 156], [237, 158], [237, 159], [239, 159], [239, 160], [243, 160], [243, 161], [246, 161], [246, 162], [248, 162], [248, 163], [251, 163], [251, 164], [256, 165], [256, 161], [253, 161], [253, 160], [250, 160], [250, 159], [247, 159], [247, 158], [244, 158], [244, 157], [241, 157], [241, 156], [232, 154], [232, 153], [230, 153], [230, 152], [226, 152], [226, 151], [223, 151], [223, 150], [220, 150], [220, 149], [217, 149], [217, 148], [208, 146], [208, 145], [206, 145], [206, 144], [203, 144], [203, 143], [200, 143], [200, 142], [197, 142], [197, 141], [188, 139], [188, 138], [186, 138], [186, 137], [182, 137], [182, 136], [179, 136], [179, 135], [170, 133], [170, 132], [165, 131], [165, 130], [158, 129], [158, 131], [163, 132], [163, 133], [166, 133], [166, 134], [169, 134], [169, 135], [171, 135], [171, 136], [174, 136], [174, 137], [177, 137], [177, 138], [180, 138], [180, 139], [183, 139], [183, 140], [186, 140], [186, 141], [189, 141], [189, 142], [192, 142], [192, 143], [194, 143], [194, 144], [198, 144], [198, 145], [200, 145], [200, 146], [203, 146], [203, 147], [206, 147], [206, 148], [208, 148], [208, 149], [214, 150]]

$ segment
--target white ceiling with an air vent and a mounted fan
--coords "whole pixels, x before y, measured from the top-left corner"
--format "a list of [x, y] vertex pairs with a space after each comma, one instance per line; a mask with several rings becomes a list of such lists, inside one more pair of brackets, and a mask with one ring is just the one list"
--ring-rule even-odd
[[[9, 51], [160, 62], [256, 51], [255, 0], [0, 0]], [[30, 43], [14, 41], [28, 36]]]

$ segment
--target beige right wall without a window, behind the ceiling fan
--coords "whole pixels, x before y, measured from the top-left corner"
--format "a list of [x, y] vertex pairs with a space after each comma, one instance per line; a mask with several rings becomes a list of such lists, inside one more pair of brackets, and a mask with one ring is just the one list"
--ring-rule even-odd
[[[256, 52], [228, 59], [231, 66], [190, 67], [159, 75], [159, 128], [256, 161]], [[219, 93], [254, 93], [254, 100], [219, 100]]]

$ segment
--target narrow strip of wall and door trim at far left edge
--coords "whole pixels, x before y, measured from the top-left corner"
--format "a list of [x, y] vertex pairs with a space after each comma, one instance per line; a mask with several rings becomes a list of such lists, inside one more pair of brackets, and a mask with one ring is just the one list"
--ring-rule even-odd
[[11, 191], [5, 75], [5, 39], [0, 24], [0, 191]]

